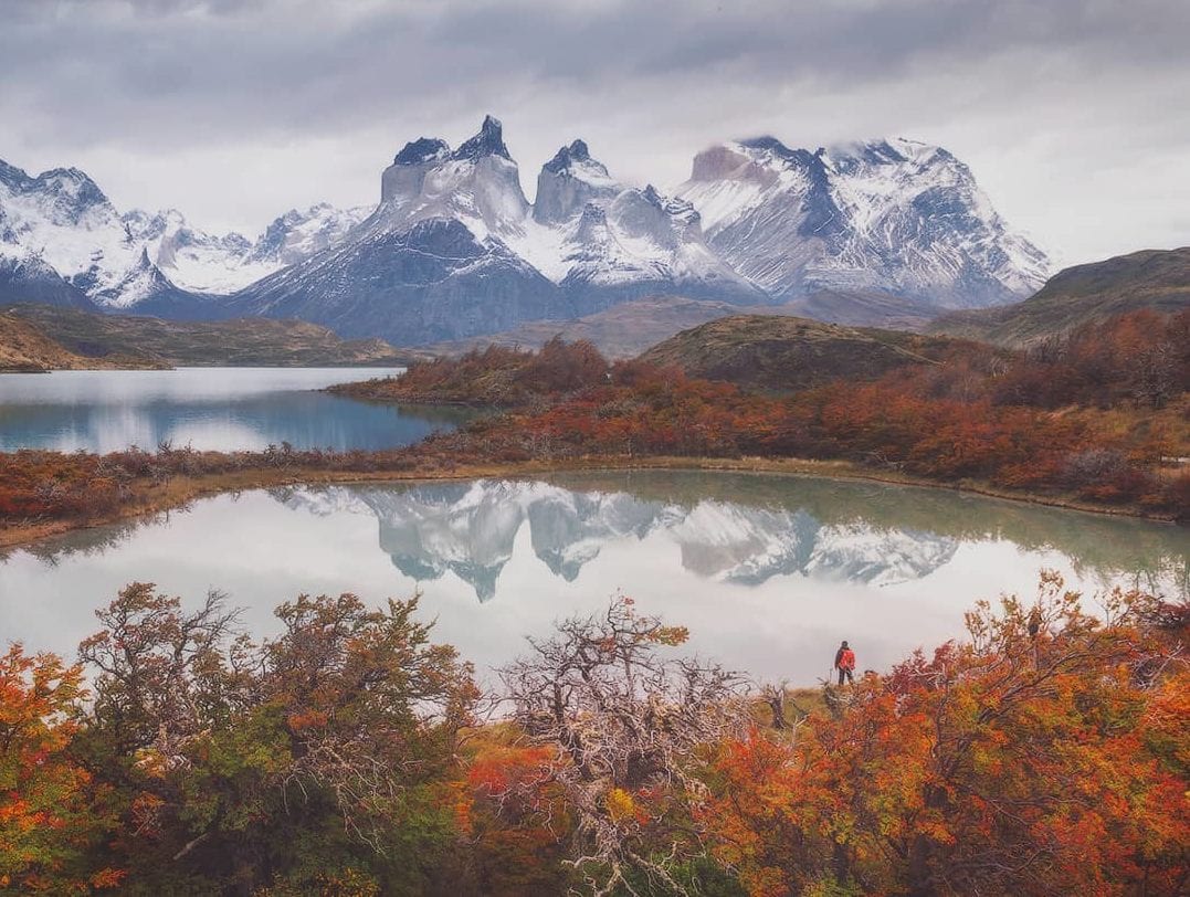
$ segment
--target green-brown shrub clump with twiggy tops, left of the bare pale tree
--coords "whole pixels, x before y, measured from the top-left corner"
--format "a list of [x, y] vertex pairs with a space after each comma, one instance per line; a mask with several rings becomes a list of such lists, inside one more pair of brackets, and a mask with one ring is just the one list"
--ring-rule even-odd
[[219, 596], [184, 611], [151, 584], [123, 590], [80, 646], [94, 698], [74, 752], [115, 792], [102, 857], [126, 890], [422, 892], [458, 835], [477, 691], [415, 607], [299, 596], [252, 642]]

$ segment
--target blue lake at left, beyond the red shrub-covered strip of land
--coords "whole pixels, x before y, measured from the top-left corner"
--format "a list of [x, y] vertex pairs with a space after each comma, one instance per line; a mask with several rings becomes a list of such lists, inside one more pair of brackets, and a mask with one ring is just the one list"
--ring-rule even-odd
[[161, 443], [259, 450], [387, 448], [468, 412], [395, 408], [315, 390], [396, 374], [381, 368], [181, 368], [0, 374], [0, 451], [111, 452]]

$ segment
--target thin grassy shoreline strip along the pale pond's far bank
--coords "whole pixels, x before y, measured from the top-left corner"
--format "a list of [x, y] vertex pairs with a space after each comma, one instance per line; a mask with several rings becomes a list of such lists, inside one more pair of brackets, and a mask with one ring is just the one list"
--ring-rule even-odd
[[19, 548], [36, 545], [45, 539], [63, 535], [79, 529], [107, 526], [125, 520], [150, 518], [175, 508], [183, 507], [198, 498], [207, 498], [227, 493], [240, 493], [255, 489], [270, 489], [286, 485], [331, 485], [352, 483], [408, 483], [408, 482], [451, 482], [461, 479], [481, 479], [488, 477], [524, 477], [545, 476], [551, 473], [574, 472], [616, 472], [633, 470], [675, 470], [708, 471], [725, 473], [768, 473], [790, 477], [809, 477], [816, 479], [838, 479], [850, 482], [873, 482], [888, 485], [904, 485], [921, 489], [938, 489], [976, 495], [984, 498], [996, 498], [1021, 504], [1072, 510], [1100, 516], [1132, 518], [1154, 523], [1179, 523], [1166, 515], [1146, 514], [1141, 509], [1121, 506], [1103, 507], [1081, 502], [1063, 496], [1047, 496], [1028, 493], [1012, 493], [994, 489], [978, 483], [940, 483], [935, 479], [913, 477], [892, 471], [872, 471], [851, 462], [812, 460], [801, 458], [682, 458], [682, 457], [646, 457], [625, 458], [614, 456], [570, 459], [565, 462], [518, 462], [493, 464], [461, 464], [443, 469], [407, 469], [361, 471], [328, 471], [313, 468], [294, 468], [276, 470], [242, 470], [205, 476], [175, 476], [161, 485], [138, 488], [136, 500], [105, 514], [88, 518], [63, 519], [45, 522], [30, 522], [17, 526], [0, 527], [0, 548]]

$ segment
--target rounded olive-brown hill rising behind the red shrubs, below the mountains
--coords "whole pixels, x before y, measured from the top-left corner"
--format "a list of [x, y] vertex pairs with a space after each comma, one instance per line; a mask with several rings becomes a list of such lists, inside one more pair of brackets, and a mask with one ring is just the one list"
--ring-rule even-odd
[[896, 368], [934, 364], [953, 340], [845, 327], [806, 318], [738, 315], [684, 331], [640, 359], [691, 377], [762, 389], [804, 389], [839, 377], [873, 380]]

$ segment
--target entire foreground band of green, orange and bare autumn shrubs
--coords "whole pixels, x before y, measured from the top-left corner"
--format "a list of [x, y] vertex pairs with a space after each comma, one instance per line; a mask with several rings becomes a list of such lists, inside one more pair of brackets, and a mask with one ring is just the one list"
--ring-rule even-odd
[[0, 663], [0, 882], [1184, 893], [1190, 610], [1096, 600], [1042, 573], [976, 603], [965, 638], [790, 713], [622, 596], [483, 694], [416, 598], [299, 596], [253, 640], [218, 595], [134, 583], [77, 664]]

